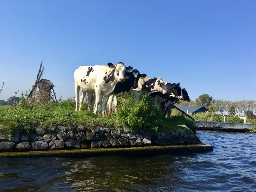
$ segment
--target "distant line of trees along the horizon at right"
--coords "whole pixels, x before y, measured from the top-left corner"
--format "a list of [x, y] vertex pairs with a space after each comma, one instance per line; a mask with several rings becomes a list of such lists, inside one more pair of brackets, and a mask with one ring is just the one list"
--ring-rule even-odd
[[256, 119], [253, 112], [256, 111], [255, 100], [242, 100], [242, 101], [227, 101], [221, 99], [213, 99], [208, 94], [200, 95], [195, 101], [185, 102], [181, 101], [177, 106], [204, 106], [211, 112], [217, 114], [227, 114], [234, 116], [237, 112], [244, 114], [248, 118]]

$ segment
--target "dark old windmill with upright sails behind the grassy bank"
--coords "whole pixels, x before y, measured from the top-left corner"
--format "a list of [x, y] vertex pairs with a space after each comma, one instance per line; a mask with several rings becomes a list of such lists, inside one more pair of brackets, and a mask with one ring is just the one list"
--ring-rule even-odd
[[[45, 67], [42, 68], [42, 63], [43, 61], [41, 62], [40, 64], [40, 67], [39, 67], [39, 71], [38, 71], [38, 74], [37, 74], [37, 79], [35, 81], [35, 84], [32, 86], [32, 90], [30, 91], [29, 93], [29, 98], [32, 98], [33, 96], [35, 96], [35, 93], [37, 91], [37, 87], [40, 89], [42, 87], [44, 87], [46, 90], [47, 90], [47, 94], [49, 95], [50, 98], [52, 98], [51, 96], [51, 90], [53, 91], [53, 94], [54, 94], [54, 98], [55, 100], [52, 98], [52, 100], [54, 102], [57, 102], [57, 98], [56, 98], [56, 95], [54, 93], [54, 84], [52, 84], [52, 82], [50, 82], [50, 80], [48, 79], [41, 79], [43, 74], [44, 74], [44, 70], [45, 70]], [[41, 70], [42, 69], [42, 70]], [[40, 80], [41, 79], [41, 80]]]

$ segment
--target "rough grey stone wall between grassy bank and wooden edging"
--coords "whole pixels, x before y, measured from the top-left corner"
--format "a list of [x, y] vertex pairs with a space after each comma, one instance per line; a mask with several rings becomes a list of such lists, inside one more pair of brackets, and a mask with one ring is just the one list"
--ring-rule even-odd
[[63, 149], [86, 149], [108, 147], [139, 147], [178, 144], [199, 144], [200, 140], [188, 128], [176, 132], [131, 132], [128, 127], [114, 130], [95, 126], [93, 129], [83, 125], [78, 127], [25, 127], [15, 130], [11, 139], [0, 131], [0, 152], [40, 151]]

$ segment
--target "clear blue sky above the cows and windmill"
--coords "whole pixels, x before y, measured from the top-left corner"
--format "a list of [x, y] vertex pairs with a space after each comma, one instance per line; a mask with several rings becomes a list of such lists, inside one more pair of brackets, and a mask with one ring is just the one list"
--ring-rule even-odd
[[256, 1], [1, 0], [0, 99], [31, 89], [41, 60], [63, 99], [76, 68], [109, 62], [180, 83], [192, 100], [256, 99]]

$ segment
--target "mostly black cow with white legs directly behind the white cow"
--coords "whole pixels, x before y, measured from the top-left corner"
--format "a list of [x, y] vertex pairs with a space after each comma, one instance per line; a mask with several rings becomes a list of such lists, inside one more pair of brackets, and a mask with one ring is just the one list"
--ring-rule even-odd
[[146, 78], [146, 76], [147, 76], [146, 74], [140, 74], [140, 72], [137, 69], [133, 69], [131, 72], [125, 72], [125, 82], [118, 82], [116, 84], [116, 87], [114, 88], [113, 95], [109, 96], [108, 109], [109, 110], [112, 109], [112, 103], [114, 103], [114, 106], [116, 106], [117, 101], [116, 101], [115, 95], [120, 96], [122, 92], [131, 94], [133, 89], [138, 88], [139, 79], [140, 78], [144, 79]]

